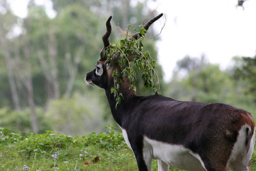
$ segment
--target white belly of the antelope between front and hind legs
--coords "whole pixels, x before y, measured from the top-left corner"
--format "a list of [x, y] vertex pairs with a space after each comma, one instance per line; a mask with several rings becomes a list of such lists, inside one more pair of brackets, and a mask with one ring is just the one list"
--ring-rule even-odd
[[201, 157], [182, 145], [159, 142], [147, 137], [144, 137], [143, 144], [144, 160], [160, 159], [170, 166], [181, 169], [206, 170]]

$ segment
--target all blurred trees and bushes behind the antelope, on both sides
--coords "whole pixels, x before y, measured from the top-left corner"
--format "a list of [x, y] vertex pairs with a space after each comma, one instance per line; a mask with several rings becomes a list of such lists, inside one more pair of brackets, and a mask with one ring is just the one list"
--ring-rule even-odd
[[[129, 24], [141, 25], [151, 12], [145, 4], [146, 0], [53, 1], [56, 16], [49, 17], [45, 6], [31, 0], [28, 16], [20, 18], [8, 1], [0, 3], [0, 126], [14, 132], [83, 135], [114, 123], [104, 91], [86, 86], [84, 77], [99, 58], [106, 13], [114, 16], [110, 41], [117, 44]], [[154, 27], [147, 32], [148, 37], [156, 34]], [[157, 38], [143, 39], [144, 52], [156, 63]], [[155, 70], [162, 95], [227, 103], [255, 117], [255, 65], [255, 57], [237, 56], [223, 71], [204, 55], [185, 56], [169, 82], [163, 82], [161, 66]], [[143, 71], [136, 76], [137, 94], [154, 94], [144, 89], [142, 75]]]

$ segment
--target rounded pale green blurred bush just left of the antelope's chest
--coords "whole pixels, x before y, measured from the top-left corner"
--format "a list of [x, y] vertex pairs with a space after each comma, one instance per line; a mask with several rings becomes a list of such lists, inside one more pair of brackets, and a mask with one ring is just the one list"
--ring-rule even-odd
[[84, 135], [102, 132], [110, 123], [102, 116], [102, 104], [92, 93], [75, 94], [72, 98], [61, 98], [49, 102], [45, 115], [58, 133]]

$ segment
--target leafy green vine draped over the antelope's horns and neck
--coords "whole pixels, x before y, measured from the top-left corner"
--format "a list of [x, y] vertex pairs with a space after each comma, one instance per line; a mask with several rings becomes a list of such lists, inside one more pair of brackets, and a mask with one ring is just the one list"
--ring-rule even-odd
[[[159, 18], [161, 16], [162, 14], [159, 15]], [[155, 21], [152, 22], [152, 20], [150, 20], [148, 23], [151, 25], [154, 22]], [[136, 71], [134, 70], [134, 65], [132, 65], [132, 63], [136, 65], [137, 71], [143, 70], [142, 80], [145, 89], [152, 89], [155, 94], [160, 94], [159, 77], [155, 71], [156, 61], [148, 52], [143, 52], [142, 40], [145, 38], [145, 33], [148, 29], [147, 24], [145, 26], [139, 26], [140, 31], [133, 35], [129, 35], [129, 29], [136, 26], [129, 25], [125, 38], [119, 40], [117, 44], [110, 44], [110, 46], [106, 47], [102, 52], [102, 56], [107, 57], [106, 63], [110, 63], [111, 57], [116, 52], [121, 52], [120, 58], [118, 59], [120, 70], [115, 70], [112, 74], [114, 78], [114, 87], [111, 89], [111, 93], [114, 93], [117, 102], [116, 109], [123, 99], [123, 95], [119, 92], [119, 89], [125, 77], [127, 77], [130, 82], [130, 89], [136, 92]], [[136, 29], [134, 30], [136, 31]], [[129, 58], [131, 55], [134, 57], [132, 60]]]

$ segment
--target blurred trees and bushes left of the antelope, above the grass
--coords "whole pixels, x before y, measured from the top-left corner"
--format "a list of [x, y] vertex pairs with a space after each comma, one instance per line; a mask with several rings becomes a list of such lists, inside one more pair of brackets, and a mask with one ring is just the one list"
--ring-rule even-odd
[[[120, 8], [127, 2], [109, 1], [114, 5], [105, 8], [102, 1], [54, 1], [54, 18], [34, 1], [26, 18], [15, 16], [8, 2], [1, 4], [0, 111], [6, 118], [1, 126], [75, 135], [100, 132], [113, 122], [104, 91], [86, 86], [84, 77], [99, 58], [106, 11], [115, 16], [111, 42], [122, 37], [115, 26], [125, 30], [131, 18], [140, 25], [149, 11], [141, 3]], [[153, 29], [148, 35], [154, 35]], [[155, 40], [143, 43], [156, 59]], [[158, 71], [162, 81], [160, 67]], [[145, 93], [140, 79], [136, 87], [139, 94]]]

